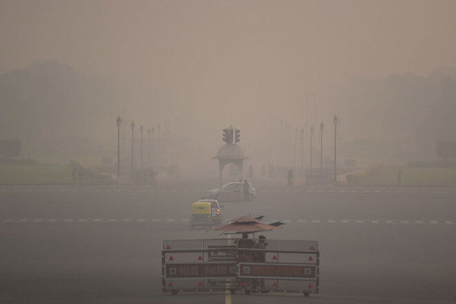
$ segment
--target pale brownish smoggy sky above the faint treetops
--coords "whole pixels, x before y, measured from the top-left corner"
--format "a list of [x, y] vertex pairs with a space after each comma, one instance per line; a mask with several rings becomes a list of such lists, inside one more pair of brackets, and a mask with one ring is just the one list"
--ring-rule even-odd
[[352, 75], [456, 67], [454, 0], [0, 0], [0, 29], [0, 73], [53, 59], [122, 83], [137, 120], [184, 109], [218, 129], [258, 109], [295, 124], [312, 93], [317, 120], [339, 113], [325, 89]]

